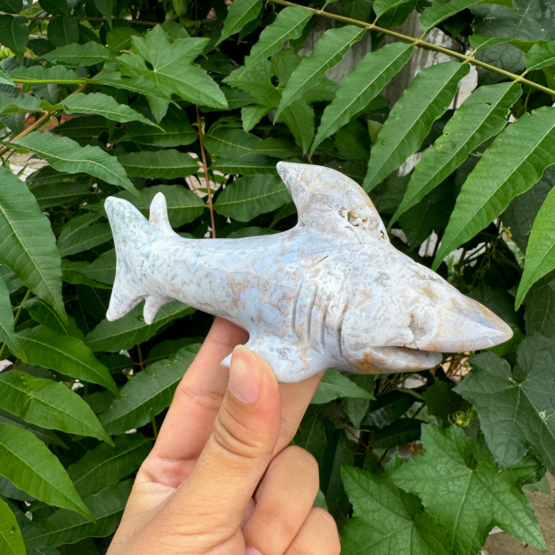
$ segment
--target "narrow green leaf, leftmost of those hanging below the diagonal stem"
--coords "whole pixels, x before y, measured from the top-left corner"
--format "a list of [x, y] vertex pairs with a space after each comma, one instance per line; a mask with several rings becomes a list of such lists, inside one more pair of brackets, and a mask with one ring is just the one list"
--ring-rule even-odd
[[245, 58], [244, 65], [233, 72], [234, 86], [240, 87], [241, 80], [252, 77], [253, 73], [256, 74], [259, 63], [278, 53], [285, 41], [299, 38], [311, 17], [312, 11], [304, 6], [290, 6], [282, 9], [275, 21], [264, 27], [259, 41], [251, 48], [249, 56]]

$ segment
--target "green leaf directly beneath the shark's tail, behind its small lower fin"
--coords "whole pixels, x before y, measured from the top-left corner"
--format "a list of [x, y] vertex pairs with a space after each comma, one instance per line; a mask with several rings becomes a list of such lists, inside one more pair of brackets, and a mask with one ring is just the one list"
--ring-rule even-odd
[[85, 336], [85, 343], [95, 352], [116, 352], [130, 349], [134, 345], [154, 337], [166, 324], [183, 318], [194, 310], [190, 306], [184, 305], [183, 302], [173, 301], [164, 305], [158, 311], [154, 322], [148, 325], [143, 319], [143, 306], [138, 305], [129, 314], [115, 322], [102, 320], [93, 331]]

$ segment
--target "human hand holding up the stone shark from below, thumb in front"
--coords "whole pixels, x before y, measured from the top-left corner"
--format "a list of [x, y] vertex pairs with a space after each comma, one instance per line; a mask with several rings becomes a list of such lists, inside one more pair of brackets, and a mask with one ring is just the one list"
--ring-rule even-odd
[[278, 384], [217, 318], [176, 389], [107, 555], [337, 555], [314, 458], [286, 447], [321, 374]]

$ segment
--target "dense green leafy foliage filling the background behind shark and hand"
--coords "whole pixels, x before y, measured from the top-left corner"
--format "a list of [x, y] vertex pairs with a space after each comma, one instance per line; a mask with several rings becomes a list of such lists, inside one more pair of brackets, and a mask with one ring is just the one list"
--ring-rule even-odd
[[[276, 233], [296, 221], [278, 160], [350, 175], [398, 248], [514, 331], [412, 381], [326, 372], [294, 441], [319, 462], [316, 502], [344, 553], [473, 555], [495, 524], [545, 548], [521, 486], [555, 470], [553, 0], [0, 10], [0, 358], [13, 362], [0, 373], [0, 553], [105, 552], [211, 322], [176, 302], [151, 326], [140, 306], [105, 320], [103, 200], [148, 214], [163, 191], [183, 236]], [[456, 47], [393, 31], [415, 10]], [[330, 28], [301, 55], [322, 18]], [[327, 78], [363, 37], [370, 52], [344, 82]], [[388, 105], [384, 87], [421, 47], [451, 61]], [[470, 65], [478, 87], [453, 111]], [[14, 152], [47, 165], [24, 182]]]

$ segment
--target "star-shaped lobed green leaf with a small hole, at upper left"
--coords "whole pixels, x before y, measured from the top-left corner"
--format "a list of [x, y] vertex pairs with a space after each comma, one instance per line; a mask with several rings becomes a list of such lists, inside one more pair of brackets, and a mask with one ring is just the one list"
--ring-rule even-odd
[[[193, 63], [203, 52], [207, 38], [180, 38], [170, 42], [162, 27], [157, 25], [143, 37], [132, 37], [129, 54], [117, 58], [120, 71], [144, 83], [151, 90], [171, 98], [178, 94], [184, 100], [213, 108], [228, 108], [224, 93], [204, 69]], [[146, 63], [152, 65], [149, 70]]]

